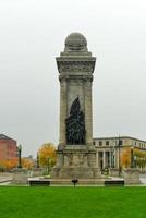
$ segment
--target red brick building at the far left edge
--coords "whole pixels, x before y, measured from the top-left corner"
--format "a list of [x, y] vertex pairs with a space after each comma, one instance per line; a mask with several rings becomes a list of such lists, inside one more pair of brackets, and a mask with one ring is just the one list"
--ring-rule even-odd
[[16, 141], [0, 134], [0, 160], [13, 159], [17, 156]]

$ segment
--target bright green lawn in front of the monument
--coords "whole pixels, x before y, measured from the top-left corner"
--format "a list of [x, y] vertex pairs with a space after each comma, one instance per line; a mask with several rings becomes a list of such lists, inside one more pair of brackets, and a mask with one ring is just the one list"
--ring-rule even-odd
[[0, 187], [0, 218], [146, 218], [146, 187]]

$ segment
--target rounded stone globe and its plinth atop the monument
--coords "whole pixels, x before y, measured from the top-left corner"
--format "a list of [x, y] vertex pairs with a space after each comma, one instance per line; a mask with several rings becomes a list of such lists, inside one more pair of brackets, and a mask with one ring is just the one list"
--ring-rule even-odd
[[65, 38], [64, 52], [61, 56], [90, 56], [87, 50], [87, 40], [81, 33], [71, 33]]

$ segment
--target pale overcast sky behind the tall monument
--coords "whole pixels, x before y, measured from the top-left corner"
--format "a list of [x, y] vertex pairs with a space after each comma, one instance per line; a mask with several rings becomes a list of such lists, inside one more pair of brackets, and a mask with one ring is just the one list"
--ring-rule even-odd
[[25, 156], [58, 145], [54, 58], [72, 32], [97, 57], [94, 136], [146, 140], [145, 0], [0, 0], [0, 133]]

